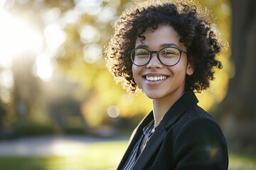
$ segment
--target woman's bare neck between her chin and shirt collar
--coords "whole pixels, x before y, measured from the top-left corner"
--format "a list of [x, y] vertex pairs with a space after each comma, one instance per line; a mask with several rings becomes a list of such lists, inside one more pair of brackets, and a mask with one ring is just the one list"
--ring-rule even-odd
[[182, 94], [178, 96], [172, 96], [171, 98], [153, 99], [153, 113], [155, 126], [158, 126], [161, 120], [164, 118], [166, 112], [174, 105], [174, 103], [180, 98]]

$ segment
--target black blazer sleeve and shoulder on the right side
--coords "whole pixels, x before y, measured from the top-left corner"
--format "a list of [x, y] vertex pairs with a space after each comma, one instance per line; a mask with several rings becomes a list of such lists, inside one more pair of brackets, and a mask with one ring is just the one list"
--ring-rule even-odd
[[223, 132], [213, 116], [202, 108], [196, 106], [184, 113], [174, 125], [173, 134], [177, 167], [226, 169], [228, 166], [228, 147]]

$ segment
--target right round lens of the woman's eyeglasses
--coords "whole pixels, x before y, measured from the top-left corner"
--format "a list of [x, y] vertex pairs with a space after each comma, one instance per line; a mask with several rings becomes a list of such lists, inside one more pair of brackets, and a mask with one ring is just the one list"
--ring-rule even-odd
[[169, 66], [177, 64], [180, 57], [180, 52], [175, 47], [166, 47], [159, 52], [161, 62]]

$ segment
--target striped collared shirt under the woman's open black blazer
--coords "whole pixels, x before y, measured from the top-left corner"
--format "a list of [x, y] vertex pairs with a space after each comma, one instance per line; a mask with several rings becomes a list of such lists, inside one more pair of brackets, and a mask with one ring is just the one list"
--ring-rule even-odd
[[135, 162], [139, 158], [139, 155], [142, 153], [146, 142], [149, 141], [151, 135], [154, 133], [154, 120], [152, 120], [148, 125], [143, 128], [143, 134], [139, 137], [138, 142], [134, 145], [127, 162], [124, 164], [123, 170], [130, 170], [134, 167]]

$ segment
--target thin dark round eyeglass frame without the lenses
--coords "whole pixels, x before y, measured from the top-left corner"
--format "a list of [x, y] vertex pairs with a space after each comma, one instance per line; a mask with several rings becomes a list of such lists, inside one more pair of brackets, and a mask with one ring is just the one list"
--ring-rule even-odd
[[[164, 62], [161, 61], [161, 59], [160, 59], [160, 57], [159, 57], [159, 53], [160, 53], [162, 50], [166, 49], [166, 48], [174, 48], [174, 49], [178, 50], [178, 52], [179, 52], [179, 57], [178, 57], [178, 61], [177, 61], [175, 64], [164, 64]], [[145, 64], [136, 64], [136, 63], [134, 63], [134, 56], [133, 56], [132, 54], [134, 53], [134, 50], [138, 50], [138, 49], [146, 50], [146, 51], [149, 52], [149, 61], [146, 62]], [[164, 48], [162, 48], [162, 49], [159, 50], [159, 51], [149, 51], [149, 50], [147, 50], [146, 48], [138, 47], [138, 48], [134, 48], [133, 50], [130, 51], [130, 55], [131, 55], [130, 57], [131, 57], [132, 63], [133, 63], [134, 65], [139, 66], [139, 67], [142, 67], [142, 66], [144, 66], [144, 65], [146, 65], [146, 64], [149, 64], [149, 62], [150, 62], [150, 60], [151, 60], [151, 58], [152, 58], [152, 55], [155, 53], [157, 59], [159, 60], [159, 62], [161, 62], [161, 64], [164, 64], [164, 65], [166, 65], [166, 66], [171, 67], [171, 66], [174, 66], [174, 65], [178, 64], [178, 62], [181, 60], [181, 53], [182, 53], [182, 52], [185, 53], [186, 55], [188, 54], [187, 52], [184, 52], [183, 50], [179, 49], [178, 47], [164, 47]]]

